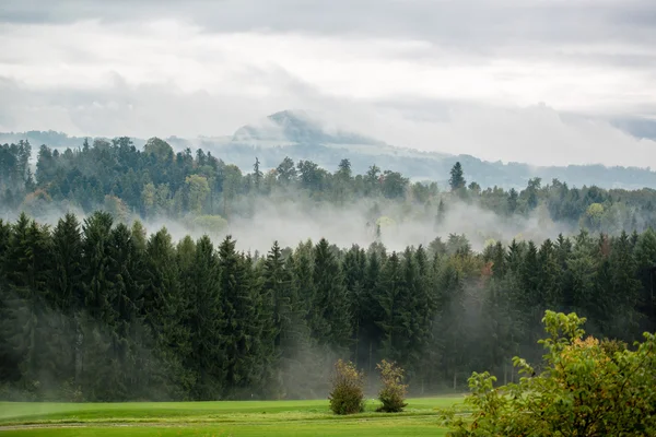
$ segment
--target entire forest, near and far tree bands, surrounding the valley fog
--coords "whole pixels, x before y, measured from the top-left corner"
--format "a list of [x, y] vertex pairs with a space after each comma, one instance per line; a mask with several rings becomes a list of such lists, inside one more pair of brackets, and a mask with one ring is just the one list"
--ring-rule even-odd
[[[396, 361], [410, 391], [462, 389], [473, 370], [517, 378], [512, 357], [539, 362], [546, 309], [576, 311], [599, 338], [637, 340], [656, 328], [653, 190], [482, 189], [462, 168], [449, 187], [349, 163], [328, 173], [285, 160], [243, 175], [210, 154], [174, 154], [128, 139], [63, 153], [26, 143], [0, 150], [2, 202], [27, 211], [0, 221], [0, 397], [28, 400], [325, 398], [332, 363], [375, 378]], [[304, 193], [339, 208], [380, 199], [440, 226], [449, 202], [511, 217], [542, 208], [579, 231], [552, 239], [431, 238], [391, 250], [298, 237], [266, 253], [236, 239], [174, 238], [151, 215], [238, 220], [257, 194]], [[288, 190], [288, 191], [284, 191]], [[280, 194], [283, 193], [283, 194]], [[67, 203], [68, 202], [68, 203]], [[39, 217], [50, 203], [84, 213]], [[257, 208], [257, 204], [255, 205]], [[276, 236], [271, 235], [271, 240]]]

